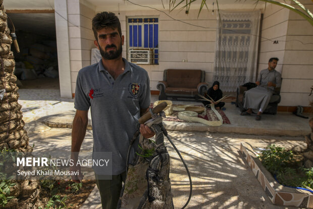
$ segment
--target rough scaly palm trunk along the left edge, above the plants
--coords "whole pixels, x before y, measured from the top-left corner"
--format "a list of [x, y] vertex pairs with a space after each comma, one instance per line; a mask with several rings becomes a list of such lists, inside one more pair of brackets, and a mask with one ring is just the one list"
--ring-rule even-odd
[[18, 87], [13, 74], [15, 61], [11, 51], [12, 38], [2, 3], [3, 0], [0, 0], [0, 92], [5, 90], [5, 93], [0, 101], [0, 150], [6, 147], [31, 152], [32, 147], [28, 145], [28, 136], [23, 129], [25, 123], [22, 120], [22, 106], [18, 104]]

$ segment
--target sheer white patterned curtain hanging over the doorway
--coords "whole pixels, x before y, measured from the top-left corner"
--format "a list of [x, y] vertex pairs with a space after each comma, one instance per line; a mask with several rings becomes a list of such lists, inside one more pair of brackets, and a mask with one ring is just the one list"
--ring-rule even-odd
[[220, 12], [214, 80], [223, 92], [255, 82], [260, 11]]

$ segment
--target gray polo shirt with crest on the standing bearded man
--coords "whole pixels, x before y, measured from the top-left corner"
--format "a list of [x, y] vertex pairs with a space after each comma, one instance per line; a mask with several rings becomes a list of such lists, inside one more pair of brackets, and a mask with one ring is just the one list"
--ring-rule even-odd
[[[148, 73], [125, 62], [125, 71], [116, 80], [102, 60], [82, 68], [77, 75], [74, 107], [91, 110], [93, 151], [112, 152], [112, 174], [125, 171], [129, 141], [136, 131], [140, 109], [150, 105]], [[138, 140], [137, 140], [138, 141]], [[134, 143], [130, 162], [137, 144]]]

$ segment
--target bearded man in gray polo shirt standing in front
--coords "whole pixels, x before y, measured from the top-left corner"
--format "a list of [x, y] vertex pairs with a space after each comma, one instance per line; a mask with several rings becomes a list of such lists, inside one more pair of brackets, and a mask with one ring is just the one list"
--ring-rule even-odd
[[[93, 152], [112, 152], [112, 180], [102, 180], [95, 173], [101, 196], [102, 208], [116, 208], [122, 181], [125, 182], [126, 155], [139, 117], [150, 105], [150, 87], [147, 72], [122, 58], [121, 24], [114, 13], [101, 12], [92, 19], [94, 45], [100, 51], [101, 60], [82, 68], [77, 75], [75, 91], [76, 114], [73, 121], [72, 153], [80, 151], [88, 124], [88, 109], [91, 107]], [[140, 133], [145, 138], [154, 135], [141, 124]], [[132, 147], [130, 161], [137, 143]], [[77, 155], [72, 154], [74, 162]], [[80, 166], [74, 163], [71, 171], [74, 182], [82, 180]]]

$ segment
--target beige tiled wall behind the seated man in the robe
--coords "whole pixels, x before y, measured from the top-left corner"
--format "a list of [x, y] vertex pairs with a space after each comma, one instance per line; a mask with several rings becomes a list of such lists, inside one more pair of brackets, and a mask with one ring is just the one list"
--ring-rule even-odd
[[[308, 3], [304, 6], [313, 10], [311, 2], [301, 2]], [[283, 77], [279, 105], [308, 106], [309, 90], [313, 84], [313, 27], [298, 14], [268, 4], [261, 36], [258, 71], [267, 68], [269, 58], [280, 59], [276, 68]], [[279, 44], [265, 38], [278, 40]]]

